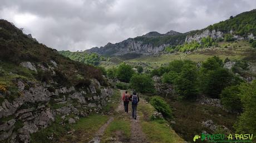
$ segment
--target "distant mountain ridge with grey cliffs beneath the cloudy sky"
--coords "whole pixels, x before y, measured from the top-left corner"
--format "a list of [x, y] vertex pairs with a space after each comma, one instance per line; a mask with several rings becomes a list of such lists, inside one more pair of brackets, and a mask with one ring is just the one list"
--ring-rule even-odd
[[158, 32], [149, 32], [145, 35], [129, 38], [120, 43], [108, 43], [104, 47], [88, 49], [87, 52], [95, 52], [106, 56], [119, 55], [127, 53], [152, 55], [162, 52], [169, 45], [180, 45], [184, 42], [200, 40], [204, 37], [213, 39], [224, 38], [225, 34], [232, 33], [235, 39], [255, 38], [256, 35], [256, 9], [238, 14], [235, 17], [209, 25], [201, 30], [193, 30], [187, 33], [170, 31], [166, 34]]

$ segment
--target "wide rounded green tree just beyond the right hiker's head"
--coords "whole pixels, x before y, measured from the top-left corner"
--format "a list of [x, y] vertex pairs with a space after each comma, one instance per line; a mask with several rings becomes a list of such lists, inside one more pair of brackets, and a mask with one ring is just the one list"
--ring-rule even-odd
[[130, 86], [140, 93], [152, 93], [154, 91], [154, 81], [147, 74], [134, 74], [131, 77]]

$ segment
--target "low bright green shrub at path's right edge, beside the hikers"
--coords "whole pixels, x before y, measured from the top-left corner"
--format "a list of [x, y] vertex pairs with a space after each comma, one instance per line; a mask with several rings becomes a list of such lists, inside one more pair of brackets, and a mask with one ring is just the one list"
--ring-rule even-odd
[[172, 117], [171, 108], [163, 98], [160, 98], [159, 96], [153, 96], [150, 99], [150, 104], [152, 106], [154, 106], [154, 108], [158, 112], [162, 113], [165, 118], [171, 118]]

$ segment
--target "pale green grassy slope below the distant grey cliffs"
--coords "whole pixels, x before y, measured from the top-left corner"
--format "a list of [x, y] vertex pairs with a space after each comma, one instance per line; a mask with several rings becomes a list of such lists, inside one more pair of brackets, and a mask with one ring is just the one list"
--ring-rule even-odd
[[[227, 48], [224, 48], [227, 45]], [[221, 59], [229, 58], [234, 59], [244, 59], [250, 56], [250, 53], [255, 52], [255, 49], [250, 47], [249, 42], [245, 40], [240, 40], [237, 42], [220, 42], [218, 47], [211, 47], [206, 49], [198, 49], [189, 54], [185, 53], [173, 53], [173, 54], [162, 54], [160, 56], [145, 56], [140, 58], [135, 58], [127, 60], [128, 62], [144, 62], [152, 67], [159, 67], [161, 64], [169, 63], [177, 59], [189, 59], [194, 62], [203, 62], [209, 57], [217, 55]]]

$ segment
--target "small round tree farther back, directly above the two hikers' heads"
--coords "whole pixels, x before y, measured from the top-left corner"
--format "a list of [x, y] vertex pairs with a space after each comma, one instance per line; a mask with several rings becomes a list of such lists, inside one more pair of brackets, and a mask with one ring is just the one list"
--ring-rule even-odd
[[120, 81], [129, 83], [131, 76], [134, 74], [134, 70], [132, 69], [131, 65], [126, 63], [121, 63], [117, 67], [116, 76], [117, 79]]

